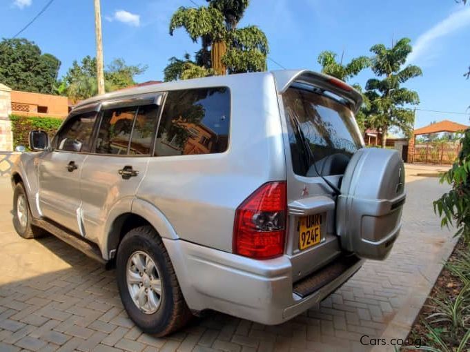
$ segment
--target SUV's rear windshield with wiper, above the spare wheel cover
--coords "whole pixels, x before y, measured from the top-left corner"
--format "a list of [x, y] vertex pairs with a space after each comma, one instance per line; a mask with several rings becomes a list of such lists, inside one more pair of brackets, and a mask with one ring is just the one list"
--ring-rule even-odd
[[295, 174], [341, 175], [362, 147], [353, 112], [339, 101], [301, 88], [283, 95]]

